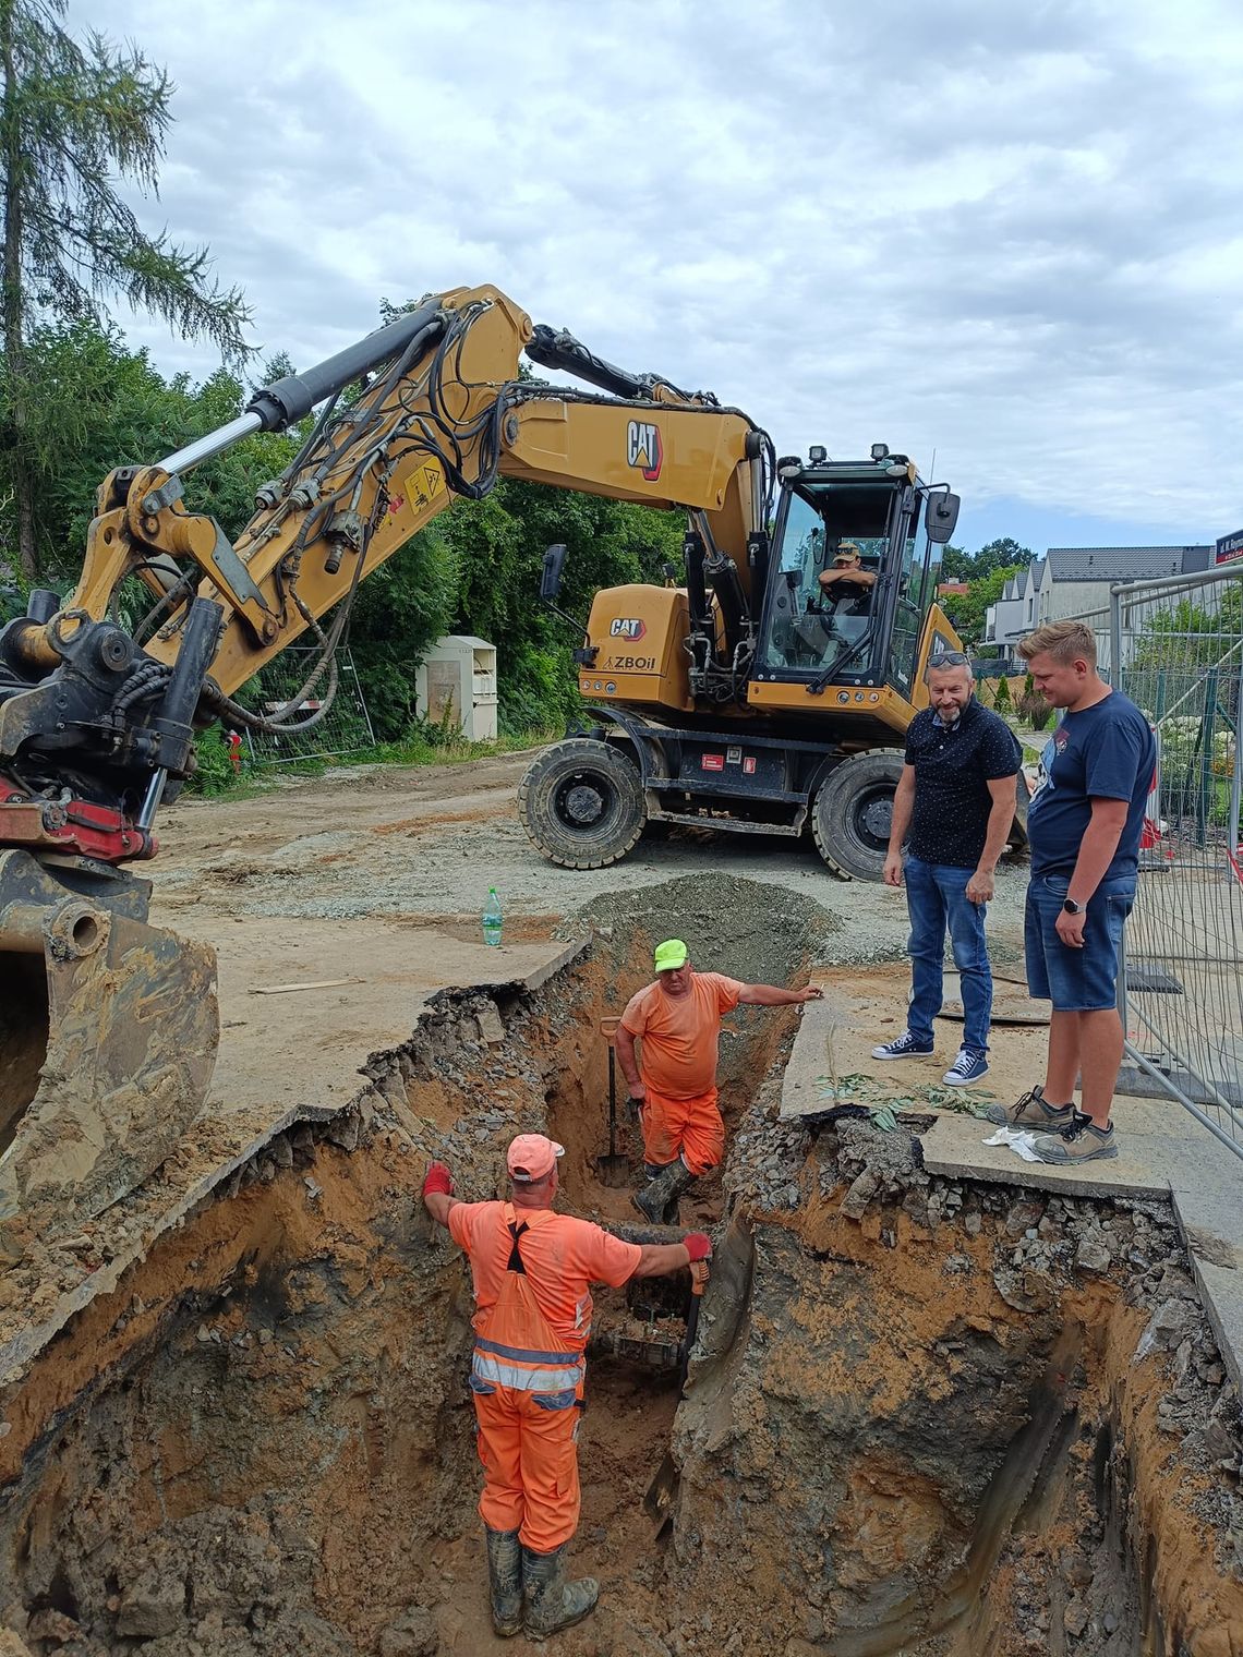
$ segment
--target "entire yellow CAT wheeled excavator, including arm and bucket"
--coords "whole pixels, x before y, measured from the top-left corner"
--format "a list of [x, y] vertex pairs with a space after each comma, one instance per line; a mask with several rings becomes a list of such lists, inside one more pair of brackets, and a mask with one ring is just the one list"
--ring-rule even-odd
[[[580, 384], [522, 378], [524, 353]], [[235, 542], [187, 509], [196, 466], [288, 428], [305, 439]], [[595, 724], [522, 790], [549, 855], [608, 862], [645, 815], [792, 832], [810, 797], [825, 855], [867, 872], [854, 865], [887, 832], [897, 775], [873, 749], [920, 704], [936, 641], [956, 643], [930, 606], [935, 560], [917, 553], [920, 510], [936, 547], [955, 497], [880, 446], [850, 466], [779, 462], [746, 414], [613, 368], [492, 287], [431, 295], [219, 431], [113, 471], [73, 593], [35, 590], [0, 628], [0, 1243], [33, 1213], [43, 1233], [99, 1215], [202, 1110], [215, 959], [149, 925], [151, 883], [131, 867], [157, 852], [196, 732], [323, 719], [360, 585], [499, 477], [689, 525], [684, 585], [593, 600], [577, 659]], [[870, 601], [839, 616], [819, 577], [847, 539], [872, 565]], [[552, 552], [549, 597], [557, 573]], [[235, 699], [307, 633], [315, 664], [293, 696], [262, 713]]]

